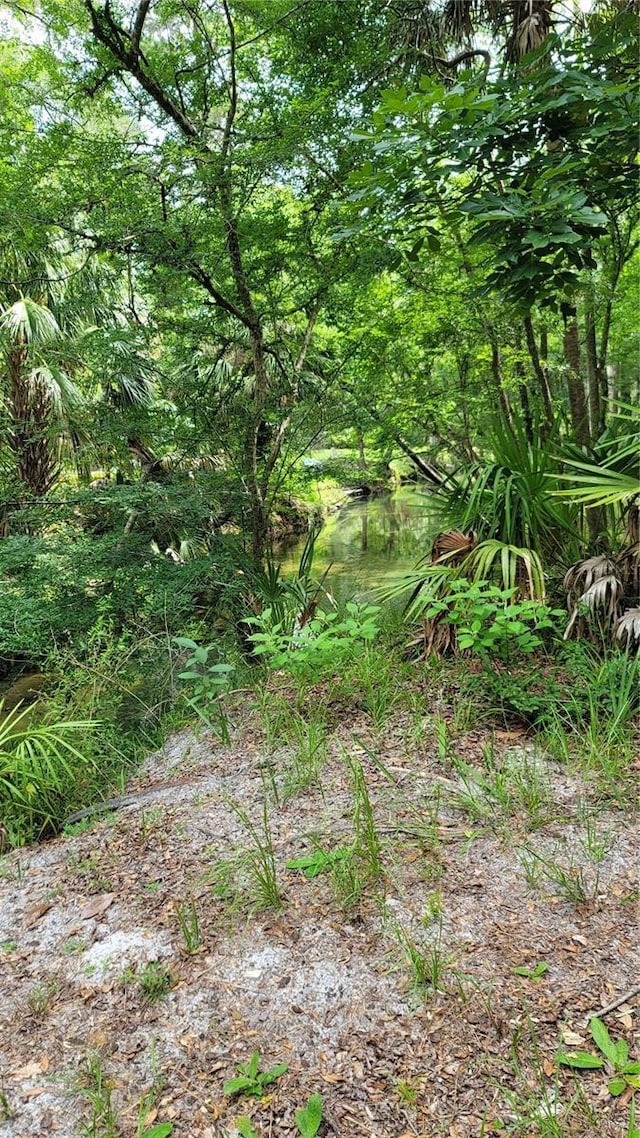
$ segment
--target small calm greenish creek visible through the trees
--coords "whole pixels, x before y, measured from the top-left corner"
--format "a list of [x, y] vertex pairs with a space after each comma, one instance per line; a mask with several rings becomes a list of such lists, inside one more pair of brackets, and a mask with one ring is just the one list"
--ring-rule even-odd
[[[422, 486], [355, 500], [327, 519], [313, 555], [313, 577], [328, 569], [325, 587], [336, 601], [378, 601], [376, 589], [394, 584], [429, 552], [438, 529], [433, 495]], [[280, 549], [282, 576], [297, 572], [305, 538]]]

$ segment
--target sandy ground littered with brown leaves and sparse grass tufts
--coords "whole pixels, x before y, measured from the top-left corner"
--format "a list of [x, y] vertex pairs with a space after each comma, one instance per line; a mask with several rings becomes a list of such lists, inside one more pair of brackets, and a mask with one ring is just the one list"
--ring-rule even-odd
[[[327, 1136], [626, 1135], [557, 1052], [639, 979], [633, 814], [445, 698], [236, 699], [231, 745], [0, 859], [2, 1138], [289, 1136], [314, 1092]], [[254, 1052], [286, 1073], [224, 1095]]]

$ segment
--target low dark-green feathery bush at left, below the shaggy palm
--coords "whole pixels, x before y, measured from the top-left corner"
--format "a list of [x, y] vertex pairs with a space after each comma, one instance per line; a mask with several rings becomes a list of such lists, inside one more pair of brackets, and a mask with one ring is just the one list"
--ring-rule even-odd
[[182, 632], [198, 607], [212, 616], [244, 586], [233, 544], [219, 538], [207, 555], [182, 563], [136, 534], [63, 530], [0, 542], [0, 667], [42, 666], [73, 645], [90, 654], [93, 630]]

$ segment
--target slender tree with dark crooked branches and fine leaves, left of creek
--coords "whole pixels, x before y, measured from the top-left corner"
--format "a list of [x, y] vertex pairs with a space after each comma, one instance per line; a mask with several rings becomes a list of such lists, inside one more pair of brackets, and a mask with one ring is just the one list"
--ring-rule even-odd
[[83, 32], [75, 58], [52, 40], [82, 125], [59, 106], [35, 148], [35, 167], [58, 172], [48, 221], [132, 261], [156, 336], [180, 341], [177, 379], [188, 355], [241, 357], [236, 457], [260, 556], [320, 313], [351, 259], [329, 239], [340, 183], [317, 157], [305, 85], [272, 71], [292, 14], [225, 0], [47, 11], [54, 34], [68, 18]]

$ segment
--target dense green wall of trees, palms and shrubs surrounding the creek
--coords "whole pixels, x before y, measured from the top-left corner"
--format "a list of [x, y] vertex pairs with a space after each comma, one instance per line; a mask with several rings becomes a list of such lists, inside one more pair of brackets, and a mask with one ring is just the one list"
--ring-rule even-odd
[[[637, 5], [528, 7], [0, 6], [0, 667], [46, 723], [129, 758], [175, 636], [216, 716], [228, 657], [374, 651], [265, 568], [320, 450], [369, 489], [401, 457], [461, 534], [402, 583], [413, 645], [568, 668], [590, 555], [568, 635], [640, 643]], [[65, 813], [30, 809], [11, 840]]]

